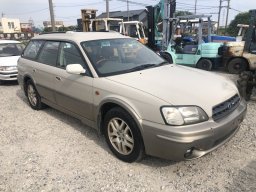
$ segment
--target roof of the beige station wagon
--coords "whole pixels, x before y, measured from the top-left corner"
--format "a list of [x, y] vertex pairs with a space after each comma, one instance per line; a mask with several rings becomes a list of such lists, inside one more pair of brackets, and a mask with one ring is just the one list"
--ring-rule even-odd
[[116, 39], [129, 38], [117, 32], [66, 32], [66, 33], [48, 33], [34, 37], [33, 39], [46, 40], [71, 40], [75, 42], [91, 41], [98, 39]]

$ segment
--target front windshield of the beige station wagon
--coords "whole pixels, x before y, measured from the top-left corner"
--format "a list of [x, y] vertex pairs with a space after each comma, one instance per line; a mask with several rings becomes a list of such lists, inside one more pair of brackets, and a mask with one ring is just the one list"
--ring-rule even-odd
[[168, 64], [134, 39], [105, 39], [82, 42], [99, 76], [117, 75]]

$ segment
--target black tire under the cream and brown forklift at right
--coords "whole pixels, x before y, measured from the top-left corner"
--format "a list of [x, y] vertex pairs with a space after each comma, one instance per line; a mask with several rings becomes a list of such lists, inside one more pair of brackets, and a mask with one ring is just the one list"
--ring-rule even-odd
[[247, 63], [244, 59], [235, 58], [228, 62], [227, 70], [232, 74], [239, 74], [247, 69]]

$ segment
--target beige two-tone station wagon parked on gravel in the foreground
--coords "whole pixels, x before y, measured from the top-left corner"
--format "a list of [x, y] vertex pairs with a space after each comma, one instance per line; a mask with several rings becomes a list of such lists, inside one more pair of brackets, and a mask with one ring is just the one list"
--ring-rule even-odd
[[247, 108], [230, 80], [111, 32], [34, 37], [18, 81], [33, 109], [46, 104], [98, 129], [126, 162], [201, 157], [234, 136]]

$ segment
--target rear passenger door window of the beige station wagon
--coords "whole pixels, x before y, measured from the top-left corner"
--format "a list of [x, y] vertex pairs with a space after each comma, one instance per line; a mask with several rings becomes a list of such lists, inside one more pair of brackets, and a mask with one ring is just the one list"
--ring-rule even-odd
[[59, 42], [47, 41], [39, 54], [38, 62], [56, 66]]

